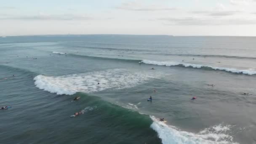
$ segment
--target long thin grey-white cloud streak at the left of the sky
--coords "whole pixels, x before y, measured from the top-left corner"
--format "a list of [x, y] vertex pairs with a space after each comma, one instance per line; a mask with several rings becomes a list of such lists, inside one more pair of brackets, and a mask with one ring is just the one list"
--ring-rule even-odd
[[90, 20], [93, 19], [86, 15], [74, 15], [74, 14], [59, 14], [59, 15], [47, 15], [44, 13], [39, 13], [38, 15], [32, 16], [12, 16], [5, 15], [5, 17], [0, 17], [0, 19], [9, 20], [59, 20], [59, 21], [70, 21], [70, 20]]

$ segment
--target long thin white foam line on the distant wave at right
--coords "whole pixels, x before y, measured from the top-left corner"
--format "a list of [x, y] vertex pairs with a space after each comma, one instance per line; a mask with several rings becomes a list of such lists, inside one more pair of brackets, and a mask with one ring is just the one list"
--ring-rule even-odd
[[242, 73], [247, 75], [256, 75], [256, 71], [250, 70], [250, 69], [233, 69], [233, 68], [226, 68], [226, 67], [213, 67], [213, 66], [207, 66], [207, 65], [200, 65], [200, 64], [186, 64], [186, 63], [180, 63], [175, 61], [149, 61], [149, 60], [143, 60], [140, 63], [144, 64], [154, 64], [159, 66], [182, 66], [182, 67], [193, 67], [193, 68], [210, 68], [213, 70], [223, 70], [226, 72], [232, 72], [232, 73]]

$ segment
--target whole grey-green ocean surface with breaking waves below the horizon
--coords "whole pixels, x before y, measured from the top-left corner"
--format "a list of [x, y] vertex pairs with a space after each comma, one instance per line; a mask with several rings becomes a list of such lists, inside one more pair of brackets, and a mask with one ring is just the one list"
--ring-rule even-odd
[[0, 143], [256, 144], [255, 86], [256, 37], [0, 37]]

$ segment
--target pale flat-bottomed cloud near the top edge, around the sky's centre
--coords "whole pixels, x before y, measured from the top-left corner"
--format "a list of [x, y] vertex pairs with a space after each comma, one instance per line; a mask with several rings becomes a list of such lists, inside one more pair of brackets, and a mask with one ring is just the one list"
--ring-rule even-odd
[[115, 7], [116, 9], [128, 10], [128, 11], [173, 11], [177, 10], [174, 7], [164, 7], [160, 5], [142, 5], [140, 3], [130, 2], [122, 3], [120, 6]]

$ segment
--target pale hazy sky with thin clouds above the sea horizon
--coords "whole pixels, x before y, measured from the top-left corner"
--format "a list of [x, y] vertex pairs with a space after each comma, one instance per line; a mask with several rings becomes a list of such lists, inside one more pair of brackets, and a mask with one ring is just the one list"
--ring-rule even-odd
[[0, 36], [256, 36], [256, 0], [0, 0]]

